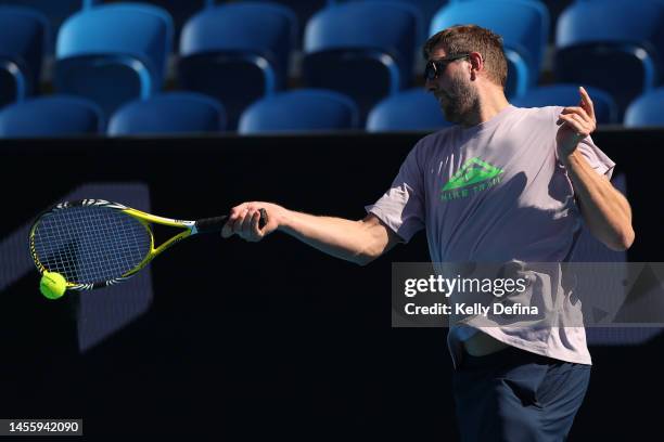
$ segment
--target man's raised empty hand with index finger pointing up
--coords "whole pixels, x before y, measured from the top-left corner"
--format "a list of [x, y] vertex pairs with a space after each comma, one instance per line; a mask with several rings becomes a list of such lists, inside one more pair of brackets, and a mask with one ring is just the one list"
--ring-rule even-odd
[[578, 92], [580, 94], [578, 106], [565, 107], [558, 116], [557, 125], [560, 128], [556, 135], [556, 142], [561, 158], [570, 156], [576, 150], [578, 143], [597, 128], [592, 100], [583, 87], [578, 88]]

